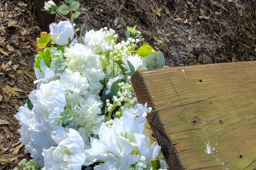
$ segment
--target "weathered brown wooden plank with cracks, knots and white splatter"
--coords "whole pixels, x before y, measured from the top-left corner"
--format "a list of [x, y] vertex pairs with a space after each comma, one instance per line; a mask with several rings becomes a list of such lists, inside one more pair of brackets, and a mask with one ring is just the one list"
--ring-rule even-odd
[[256, 61], [136, 72], [171, 170], [256, 169]]

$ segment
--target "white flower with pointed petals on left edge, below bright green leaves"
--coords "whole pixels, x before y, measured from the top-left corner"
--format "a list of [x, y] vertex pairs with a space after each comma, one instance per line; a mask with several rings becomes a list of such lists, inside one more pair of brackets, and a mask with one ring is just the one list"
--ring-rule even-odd
[[[35, 55], [35, 60], [37, 60], [38, 55], [39, 54]], [[51, 62], [50, 68], [49, 68], [45, 65], [45, 62], [42, 59], [40, 61], [40, 68], [42, 71], [40, 71], [37, 67], [35, 67], [35, 76], [37, 77], [37, 80], [35, 80], [34, 83], [36, 84], [36, 83], [40, 82], [37, 84], [38, 87], [40, 86], [40, 84], [42, 82], [49, 83], [52, 80], [58, 79], [58, 77], [55, 76], [55, 74], [54, 74], [55, 67], [52, 65], [52, 62]]]

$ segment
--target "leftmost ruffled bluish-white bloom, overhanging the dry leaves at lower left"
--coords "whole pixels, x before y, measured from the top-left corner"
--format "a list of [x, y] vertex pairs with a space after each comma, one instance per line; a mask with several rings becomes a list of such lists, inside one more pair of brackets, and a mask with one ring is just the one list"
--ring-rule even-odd
[[18, 110], [19, 112], [14, 117], [20, 121], [19, 124], [21, 125], [21, 129], [19, 129], [21, 138], [19, 140], [24, 143], [31, 157], [39, 159], [38, 163], [43, 165], [43, 148], [50, 148], [56, 143], [51, 138], [50, 133], [36, 121], [34, 112], [27, 107], [27, 104], [19, 107]]

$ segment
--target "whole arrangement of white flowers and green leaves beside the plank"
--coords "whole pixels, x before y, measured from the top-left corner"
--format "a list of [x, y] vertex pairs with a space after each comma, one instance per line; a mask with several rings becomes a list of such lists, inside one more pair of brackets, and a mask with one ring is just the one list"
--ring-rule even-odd
[[130, 82], [137, 70], [166, 67], [163, 53], [138, 48], [144, 38], [136, 26], [121, 42], [107, 27], [83, 35], [85, 24], [74, 24], [79, 7], [45, 2], [44, 11], [65, 20], [37, 38], [37, 89], [15, 115], [33, 160], [14, 169], [168, 169], [145, 118], [154, 111], [138, 103]]

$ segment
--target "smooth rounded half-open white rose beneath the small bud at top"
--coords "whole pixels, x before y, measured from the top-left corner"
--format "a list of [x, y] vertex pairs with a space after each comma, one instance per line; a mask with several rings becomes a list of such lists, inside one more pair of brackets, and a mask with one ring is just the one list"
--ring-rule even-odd
[[51, 23], [49, 27], [51, 40], [57, 45], [67, 45], [69, 39], [72, 41], [74, 38], [74, 28], [69, 21], [61, 21], [59, 24]]

